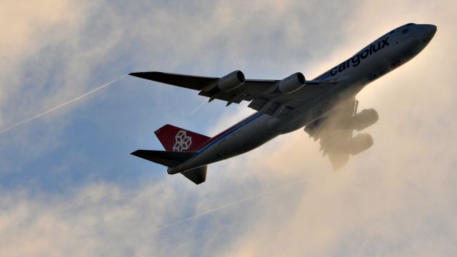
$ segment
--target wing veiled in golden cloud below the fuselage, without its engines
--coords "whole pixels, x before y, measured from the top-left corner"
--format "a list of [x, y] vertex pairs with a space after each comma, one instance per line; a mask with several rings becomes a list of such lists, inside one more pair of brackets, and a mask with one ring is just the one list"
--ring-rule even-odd
[[348, 141], [353, 136], [353, 129], [345, 126], [357, 113], [358, 101], [355, 98], [336, 106], [327, 116], [306, 125], [305, 131], [314, 141], [320, 139], [323, 156], [327, 155], [334, 170], [343, 167], [349, 160]]

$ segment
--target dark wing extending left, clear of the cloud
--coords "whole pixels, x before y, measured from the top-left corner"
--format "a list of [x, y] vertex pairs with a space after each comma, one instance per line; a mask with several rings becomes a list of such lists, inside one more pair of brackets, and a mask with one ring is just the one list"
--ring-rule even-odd
[[[231, 74], [235, 74], [236, 72], [241, 71], [233, 71]], [[218, 85], [220, 85], [221, 80], [225, 79], [225, 81], [228, 81], [231, 79], [228, 77], [231, 74], [222, 78], [169, 74], [157, 71], [135, 72], [130, 75], [164, 84], [181, 86], [186, 89], [194, 89], [200, 91], [199, 95], [208, 97], [209, 101], [213, 101], [214, 99], [226, 101], [227, 106], [233, 103], [239, 104], [241, 101], [250, 101], [251, 103], [248, 106], [251, 109], [278, 117], [279, 119], [288, 116], [293, 109], [306, 103], [306, 101], [316, 96], [316, 94], [325, 91], [329, 86], [336, 84], [336, 81], [306, 81], [306, 85], [303, 88], [293, 91], [291, 94], [283, 94], [281, 91], [278, 91], [280, 80], [244, 80], [243, 77], [244, 82], [241, 86], [231, 90], [219, 89]]]

